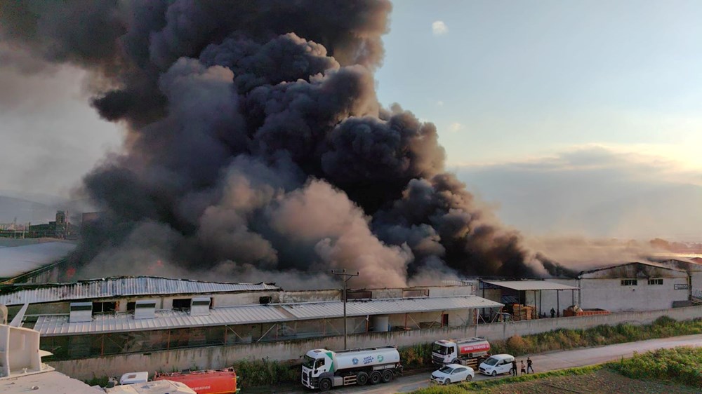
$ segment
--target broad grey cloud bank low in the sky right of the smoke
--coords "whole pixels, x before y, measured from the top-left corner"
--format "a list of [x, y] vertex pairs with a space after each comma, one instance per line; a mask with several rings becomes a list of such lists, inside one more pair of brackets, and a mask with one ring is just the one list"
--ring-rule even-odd
[[456, 168], [527, 234], [698, 237], [702, 174], [673, 158], [584, 145], [550, 156]]

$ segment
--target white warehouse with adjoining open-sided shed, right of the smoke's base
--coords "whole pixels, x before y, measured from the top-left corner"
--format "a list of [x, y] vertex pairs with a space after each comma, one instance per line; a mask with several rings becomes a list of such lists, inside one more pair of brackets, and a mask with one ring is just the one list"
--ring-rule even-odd
[[[569, 306], [623, 312], [702, 304], [702, 264], [680, 260], [607, 266], [583, 271], [577, 278], [478, 280], [478, 283], [479, 296], [506, 306], [532, 308], [534, 312], [529, 318], [550, 318], [551, 309], [555, 317], [560, 317]], [[509, 307], [501, 313], [508, 313], [503, 317], [510, 320], [522, 317]], [[494, 311], [481, 311], [481, 316], [486, 322], [496, 319]]]

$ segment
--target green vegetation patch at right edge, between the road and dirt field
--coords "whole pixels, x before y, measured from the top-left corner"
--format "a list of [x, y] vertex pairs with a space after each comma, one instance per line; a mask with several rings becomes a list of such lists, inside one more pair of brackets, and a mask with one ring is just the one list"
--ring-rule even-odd
[[656, 379], [702, 388], [702, 348], [658, 349], [610, 362], [607, 367], [632, 379]]

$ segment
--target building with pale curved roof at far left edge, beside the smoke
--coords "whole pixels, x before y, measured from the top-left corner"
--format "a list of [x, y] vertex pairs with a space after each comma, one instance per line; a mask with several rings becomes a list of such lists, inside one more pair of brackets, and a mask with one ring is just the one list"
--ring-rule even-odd
[[51, 238], [0, 238], [0, 285], [58, 281], [75, 243]]

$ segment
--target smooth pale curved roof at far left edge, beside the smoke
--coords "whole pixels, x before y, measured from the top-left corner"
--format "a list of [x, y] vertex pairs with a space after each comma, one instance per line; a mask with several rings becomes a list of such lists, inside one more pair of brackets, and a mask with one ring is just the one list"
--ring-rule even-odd
[[58, 241], [0, 247], [0, 278], [13, 278], [40, 269], [66, 257], [75, 248], [74, 243]]

